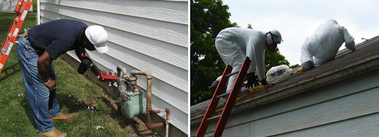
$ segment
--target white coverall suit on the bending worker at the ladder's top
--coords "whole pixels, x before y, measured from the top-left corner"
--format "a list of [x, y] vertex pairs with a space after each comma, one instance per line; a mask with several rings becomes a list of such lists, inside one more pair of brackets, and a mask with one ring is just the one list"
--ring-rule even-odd
[[[233, 67], [232, 72], [240, 70], [245, 57], [249, 57], [252, 63], [247, 73], [257, 72], [262, 81], [265, 78], [265, 32], [249, 28], [226, 28], [221, 30], [216, 37], [216, 50], [223, 59], [225, 65]], [[220, 81], [218, 77], [218, 81]], [[237, 74], [230, 76], [227, 83], [227, 92], [231, 92]]]

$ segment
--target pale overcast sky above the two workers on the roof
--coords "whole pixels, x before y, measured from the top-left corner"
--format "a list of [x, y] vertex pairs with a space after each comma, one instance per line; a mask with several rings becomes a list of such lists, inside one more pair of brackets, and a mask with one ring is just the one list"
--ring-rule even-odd
[[[247, 28], [268, 32], [279, 30], [283, 43], [280, 53], [290, 65], [300, 65], [300, 46], [321, 23], [328, 19], [345, 26], [356, 43], [362, 37], [379, 35], [379, 1], [376, 0], [223, 0], [229, 6], [230, 21]], [[345, 48], [342, 45], [340, 50]]]

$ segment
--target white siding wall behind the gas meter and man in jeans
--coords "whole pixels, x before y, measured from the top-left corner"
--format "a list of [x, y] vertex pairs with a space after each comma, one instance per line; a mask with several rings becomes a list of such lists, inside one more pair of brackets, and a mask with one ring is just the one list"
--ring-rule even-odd
[[[41, 0], [41, 23], [75, 19], [101, 25], [108, 32], [109, 51], [89, 52], [102, 70], [152, 72], [152, 107], [170, 109], [174, 126], [187, 134], [188, 1]], [[68, 52], [77, 61], [75, 53]], [[141, 89], [146, 78], [140, 76]], [[165, 117], [165, 113], [159, 114]]]

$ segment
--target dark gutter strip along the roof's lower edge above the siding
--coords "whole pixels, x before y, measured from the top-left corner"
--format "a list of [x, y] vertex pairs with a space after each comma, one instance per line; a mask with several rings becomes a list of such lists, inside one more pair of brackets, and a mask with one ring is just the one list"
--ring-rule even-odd
[[[245, 111], [246, 109], [252, 109], [253, 107], [258, 107], [259, 105], [278, 101], [282, 98], [294, 96], [295, 94], [300, 94], [302, 92], [309, 91], [310, 89], [315, 89], [317, 87], [336, 83], [337, 81], [342, 81], [347, 78], [358, 76], [365, 72], [371, 72], [373, 70], [379, 70], [379, 54], [359, 61], [358, 63], [346, 65], [345, 67], [335, 70], [334, 72], [329, 72], [320, 76], [309, 78], [305, 80], [304, 83], [300, 83], [292, 87], [283, 87], [282, 89], [276, 89], [272, 92], [268, 92], [267, 94], [261, 94], [254, 98], [247, 99], [243, 102], [236, 103], [232, 109], [232, 114]], [[222, 109], [223, 108], [217, 109], [214, 115], [220, 115]], [[199, 125], [203, 119], [203, 116], [204, 114], [191, 118], [191, 126]]]

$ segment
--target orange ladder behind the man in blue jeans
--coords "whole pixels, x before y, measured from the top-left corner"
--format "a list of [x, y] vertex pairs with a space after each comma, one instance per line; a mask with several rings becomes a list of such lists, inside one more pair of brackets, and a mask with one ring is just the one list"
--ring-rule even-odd
[[8, 30], [8, 35], [1, 45], [0, 50], [0, 74], [3, 71], [4, 65], [8, 59], [10, 50], [12, 50], [12, 46], [14, 41], [16, 41], [17, 35], [21, 30], [21, 26], [23, 25], [23, 21], [26, 18], [26, 15], [29, 12], [30, 6], [32, 6], [33, 0], [19, 0], [17, 2], [16, 8], [14, 8], [14, 12], [16, 12], [16, 17], [14, 17], [12, 25]]

